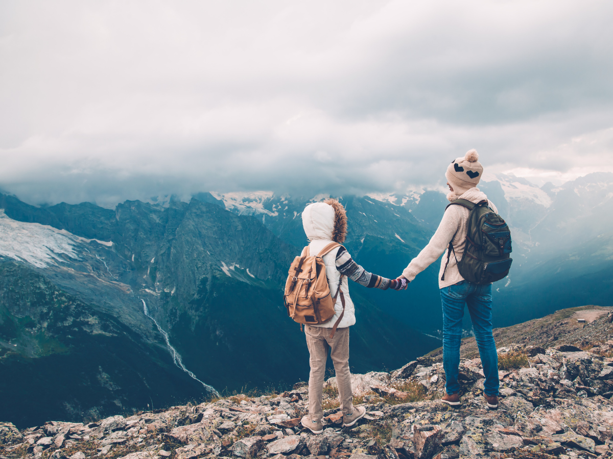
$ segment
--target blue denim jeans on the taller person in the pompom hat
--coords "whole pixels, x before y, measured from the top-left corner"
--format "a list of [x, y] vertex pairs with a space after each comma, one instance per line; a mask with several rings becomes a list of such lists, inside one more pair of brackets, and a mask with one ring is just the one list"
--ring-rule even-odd
[[460, 343], [462, 341], [462, 318], [464, 305], [468, 305], [473, 322], [474, 337], [479, 348], [484, 390], [487, 395], [498, 395], [498, 354], [492, 336], [492, 284], [477, 285], [463, 280], [441, 288], [443, 302], [443, 368], [447, 394], [460, 390], [458, 368], [460, 366]]

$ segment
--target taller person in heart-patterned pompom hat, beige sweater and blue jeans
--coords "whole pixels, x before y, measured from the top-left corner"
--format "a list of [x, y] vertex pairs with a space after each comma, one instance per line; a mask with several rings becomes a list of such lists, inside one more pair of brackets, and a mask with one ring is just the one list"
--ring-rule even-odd
[[[449, 194], [447, 200], [458, 199], [479, 203], [487, 200], [487, 196], [476, 186], [483, 175], [483, 167], [478, 162], [479, 155], [472, 149], [462, 158], [458, 158], [447, 166], [447, 185]], [[498, 212], [491, 201], [488, 206]], [[498, 408], [498, 355], [492, 336], [492, 284], [478, 285], [464, 280], [457, 268], [457, 261], [462, 259], [466, 243], [466, 221], [470, 211], [463, 206], [448, 206], [438, 229], [428, 245], [424, 247], [409, 266], [405, 268], [399, 279], [405, 278], [411, 282], [417, 274], [424, 271], [440, 257], [449, 242], [452, 242], [455, 256], [441, 259], [438, 287], [441, 289], [443, 303], [443, 368], [447, 382], [446, 394], [441, 399], [448, 405], [460, 405], [460, 384], [458, 373], [460, 365], [460, 343], [462, 341], [462, 318], [464, 305], [468, 305], [474, 335], [479, 347], [481, 364], [485, 375], [484, 395], [490, 409]]]

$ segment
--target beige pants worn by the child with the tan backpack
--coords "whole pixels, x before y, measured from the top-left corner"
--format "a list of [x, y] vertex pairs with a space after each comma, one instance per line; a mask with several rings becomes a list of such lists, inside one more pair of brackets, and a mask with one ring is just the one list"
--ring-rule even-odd
[[328, 351], [332, 349], [331, 357], [337, 376], [338, 398], [343, 414], [353, 412], [353, 392], [351, 390], [351, 371], [349, 371], [349, 327], [337, 329], [334, 338], [330, 339], [331, 328], [305, 326], [308, 351], [311, 354], [311, 373], [308, 378], [308, 411], [311, 420], [317, 421], [324, 417], [321, 409], [321, 398], [326, 376], [326, 360]]

